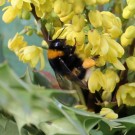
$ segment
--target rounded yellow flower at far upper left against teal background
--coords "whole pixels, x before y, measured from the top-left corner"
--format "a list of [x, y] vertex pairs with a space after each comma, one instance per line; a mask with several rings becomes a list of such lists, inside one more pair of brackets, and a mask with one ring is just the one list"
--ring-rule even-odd
[[3, 10], [6, 10], [2, 16], [2, 20], [5, 23], [12, 22], [20, 12], [19, 9], [13, 8], [12, 6], [8, 6], [8, 7], [4, 8]]

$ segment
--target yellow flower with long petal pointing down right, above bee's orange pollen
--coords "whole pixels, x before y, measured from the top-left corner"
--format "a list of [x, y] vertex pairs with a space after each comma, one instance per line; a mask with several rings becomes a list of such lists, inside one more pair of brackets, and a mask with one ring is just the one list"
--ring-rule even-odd
[[[110, 38], [108, 34], [100, 34], [97, 30], [89, 31], [88, 41], [91, 46], [91, 55], [99, 55], [102, 57], [103, 63], [110, 62], [120, 70], [125, 69], [118, 61], [118, 58], [123, 56], [124, 49], [114, 39]], [[100, 61], [98, 62], [100, 63]], [[101, 65], [101, 63], [96, 65]]]

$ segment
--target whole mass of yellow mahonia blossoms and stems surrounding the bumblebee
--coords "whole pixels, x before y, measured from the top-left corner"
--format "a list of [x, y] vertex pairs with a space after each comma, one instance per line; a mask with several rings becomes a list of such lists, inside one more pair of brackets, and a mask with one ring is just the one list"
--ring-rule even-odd
[[[1, 0], [0, 5], [4, 6], [5, 23], [33, 16], [41, 28], [35, 31], [27, 26], [8, 41], [8, 48], [32, 68], [39, 62], [40, 70], [45, 66], [44, 47], [24, 40], [25, 34], [31, 36], [34, 32], [43, 38], [46, 47], [49, 39], [59, 37], [66, 39], [68, 45], [76, 45], [75, 53], [84, 61], [93, 59], [92, 64], [86, 61], [89, 93], [95, 96], [94, 105], [100, 108], [100, 115], [117, 119], [122, 117], [120, 112], [125, 111], [125, 106], [135, 106], [134, 3], [135, 0]], [[91, 100], [89, 97], [90, 103]]]

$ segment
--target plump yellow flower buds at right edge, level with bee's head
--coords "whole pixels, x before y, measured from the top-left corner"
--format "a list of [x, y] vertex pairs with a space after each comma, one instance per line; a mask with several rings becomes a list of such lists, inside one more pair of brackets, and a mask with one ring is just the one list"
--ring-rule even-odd
[[121, 36], [122, 46], [131, 45], [134, 38], [135, 38], [135, 26], [131, 25], [126, 29], [126, 31]]

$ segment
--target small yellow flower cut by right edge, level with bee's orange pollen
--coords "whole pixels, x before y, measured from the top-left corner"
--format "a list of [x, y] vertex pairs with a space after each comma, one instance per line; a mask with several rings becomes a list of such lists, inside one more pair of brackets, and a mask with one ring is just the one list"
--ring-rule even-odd
[[135, 71], [135, 57], [131, 56], [126, 59], [127, 66], [130, 70]]

